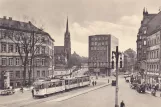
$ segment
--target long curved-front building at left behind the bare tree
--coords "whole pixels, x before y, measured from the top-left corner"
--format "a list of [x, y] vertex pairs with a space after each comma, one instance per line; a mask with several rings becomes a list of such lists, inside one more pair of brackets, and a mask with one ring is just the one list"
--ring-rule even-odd
[[[31, 22], [0, 19], [0, 74], [9, 72], [11, 86], [22, 85], [24, 77], [28, 83], [52, 75], [53, 63], [54, 39], [48, 33]], [[0, 87], [4, 88], [2, 78]]]

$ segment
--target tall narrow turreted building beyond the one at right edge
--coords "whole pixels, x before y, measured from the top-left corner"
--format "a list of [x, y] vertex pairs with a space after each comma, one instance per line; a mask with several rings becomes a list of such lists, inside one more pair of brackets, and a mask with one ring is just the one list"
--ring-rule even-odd
[[149, 14], [147, 10], [143, 10], [143, 19], [141, 21], [141, 26], [137, 34], [137, 65], [139, 70], [145, 69], [146, 64], [146, 50], [147, 50], [147, 30], [148, 23], [156, 16], [157, 14]]

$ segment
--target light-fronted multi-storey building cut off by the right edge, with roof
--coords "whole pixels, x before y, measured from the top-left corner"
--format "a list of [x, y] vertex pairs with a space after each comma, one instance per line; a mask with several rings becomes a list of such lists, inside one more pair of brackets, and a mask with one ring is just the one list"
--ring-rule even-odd
[[161, 78], [161, 12], [148, 23], [147, 82], [158, 83]]

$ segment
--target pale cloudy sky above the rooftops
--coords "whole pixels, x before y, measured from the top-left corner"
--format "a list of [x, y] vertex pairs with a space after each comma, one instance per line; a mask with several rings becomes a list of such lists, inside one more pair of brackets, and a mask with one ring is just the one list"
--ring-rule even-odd
[[160, 0], [0, 0], [0, 17], [31, 21], [64, 45], [68, 16], [72, 52], [88, 56], [88, 36], [111, 34], [119, 39], [119, 50], [136, 51], [136, 37], [143, 8], [158, 13]]

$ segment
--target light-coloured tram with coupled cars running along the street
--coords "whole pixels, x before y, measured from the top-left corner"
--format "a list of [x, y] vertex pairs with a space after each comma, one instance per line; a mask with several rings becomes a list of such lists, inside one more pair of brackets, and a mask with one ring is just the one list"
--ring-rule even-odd
[[65, 79], [51, 79], [44, 81], [36, 81], [33, 83], [34, 96], [48, 96], [50, 94], [68, 91], [74, 88], [90, 85], [89, 76], [80, 76]]

